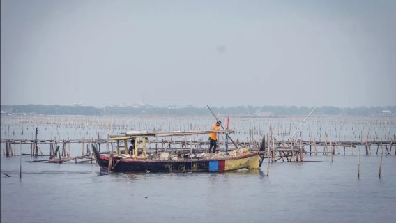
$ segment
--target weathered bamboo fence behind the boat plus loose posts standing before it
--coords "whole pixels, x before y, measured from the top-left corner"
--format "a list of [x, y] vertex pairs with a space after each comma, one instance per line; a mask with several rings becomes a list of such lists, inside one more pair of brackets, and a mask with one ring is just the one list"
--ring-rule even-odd
[[[322, 153], [323, 155], [331, 155], [331, 162], [333, 162], [333, 157], [335, 155], [335, 151], [338, 150], [338, 154], [340, 154], [340, 147], [344, 148], [344, 155], [345, 155], [345, 148], [356, 148], [357, 146], [365, 146], [366, 155], [372, 154], [371, 146], [376, 146], [376, 155], [379, 155], [379, 147], [381, 146], [381, 160], [380, 160], [380, 167], [379, 167], [379, 178], [381, 178], [381, 166], [382, 166], [382, 156], [384, 155], [383, 147], [385, 147], [385, 155], [391, 155], [392, 147], [395, 147], [395, 140], [394, 141], [366, 141], [365, 143], [361, 143], [358, 141], [302, 141], [301, 139], [295, 141], [277, 141], [273, 134], [270, 132], [266, 134], [266, 137], [263, 137], [261, 143], [258, 141], [236, 141], [238, 146], [242, 147], [249, 147], [252, 150], [259, 151], [262, 158], [265, 157], [268, 160], [268, 167], [267, 167], [267, 176], [269, 175], [269, 163], [270, 162], [277, 162], [278, 160], [282, 160], [283, 162], [303, 162], [304, 155], [307, 153], [312, 155], [317, 155], [318, 153]], [[268, 139], [267, 141], [265, 139]], [[50, 144], [50, 159], [47, 160], [34, 160], [33, 162], [56, 162], [56, 163], [63, 163], [68, 162], [71, 160], [75, 160], [77, 163], [77, 159], [88, 159], [79, 162], [93, 162], [94, 157], [90, 150], [90, 145], [95, 144], [96, 147], [101, 149], [101, 145], [106, 145], [106, 153], [114, 153], [116, 150], [117, 141], [109, 140], [109, 139], [68, 139], [68, 140], [38, 140], [37, 139], [37, 128], [36, 128], [36, 139], [34, 140], [16, 140], [16, 139], [6, 139], [2, 140], [1, 143], [6, 144], [6, 148], [4, 150], [4, 155], [14, 156], [17, 155], [15, 151], [15, 145], [20, 145], [20, 156], [22, 155], [31, 155], [33, 157], [44, 156], [43, 151], [39, 148], [38, 144]], [[22, 144], [29, 144], [30, 145], [30, 154], [22, 153]], [[70, 144], [81, 144], [81, 155], [78, 156], [70, 156]], [[155, 153], [164, 151], [169, 149], [170, 151], [190, 151], [192, 146], [195, 146], [195, 151], [207, 151], [208, 142], [205, 140], [198, 140], [198, 141], [187, 141], [187, 140], [151, 140], [146, 141], [148, 146], [147, 150], [151, 151], [151, 153]], [[219, 140], [220, 145], [224, 145], [224, 141]], [[260, 145], [266, 145], [262, 150]], [[61, 148], [60, 148], [61, 145]], [[85, 146], [84, 146], [85, 145]], [[155, 147], [154, 147], [154, 146]], [[179, 145], [179, 146], [177, 146]], [[304, 146], [310, 146], [310, 151], [305, 151]], [[153, 147], [151, 147], [153, 146]], [[190, 148], [188, 148], [190, 146]], [[230, 145], [231, 146], [231, 145]], [[321, 146], [323, 148], [322, 151], [318, 151], [317, 147]], [[389, 147], [388, 147], [389, 146]], [[231, 146], [232, 147], [232, 146]], [[314, 151], [312, 151], [312, 147]], [[232, 149], [232, 148], [230, 148]], [[396, 155], [396, 147], [394, 149]], [[22, 177], [22, 164], [20, 164], [20, 177]], [[358, 178], [360, 177], [360, 149], [358, 149]]]

